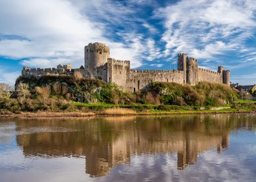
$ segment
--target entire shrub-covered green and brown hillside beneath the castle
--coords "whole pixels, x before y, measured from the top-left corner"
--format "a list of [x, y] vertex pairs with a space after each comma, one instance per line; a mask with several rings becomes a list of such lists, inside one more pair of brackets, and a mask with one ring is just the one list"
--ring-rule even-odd
[[8, 93], [0, 87], [2, 113], [37, 110], [72, 112], [112, 107], [137, 111], [200, 110], [200, 107], [232, 104], [238, 99], [236, 90], [222, 84], [199, 83], [190, 86], [155, 82], [140, 92], [132, 93], [121, 91], [115, 84], [86, 79], [79, 74], [19, 77], [15, 91]]

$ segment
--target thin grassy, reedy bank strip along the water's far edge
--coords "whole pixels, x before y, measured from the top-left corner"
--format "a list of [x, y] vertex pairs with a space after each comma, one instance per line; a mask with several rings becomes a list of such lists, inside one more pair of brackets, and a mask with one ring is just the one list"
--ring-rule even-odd
[[157, 110], [145, 112], [20, 112], [18, 114], [0, 114], [2, 118], [84, 118], [88, 116], [154, 116], [174, 114], [225, 114], [225, 113], [256, 113], [255, 109], [221, 109], [221, 110]]

